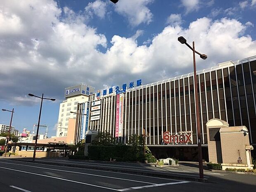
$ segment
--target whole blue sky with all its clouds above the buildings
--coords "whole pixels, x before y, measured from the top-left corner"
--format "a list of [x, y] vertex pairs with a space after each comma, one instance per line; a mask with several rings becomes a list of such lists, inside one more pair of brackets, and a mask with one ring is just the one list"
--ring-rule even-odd
[[[256, 55], [256, 0], [1, 0], [0, 108], [12, 126], [56, 135], [64, 89], [142, 84]], [[0, 124], [11, 113], [0, 111]]]

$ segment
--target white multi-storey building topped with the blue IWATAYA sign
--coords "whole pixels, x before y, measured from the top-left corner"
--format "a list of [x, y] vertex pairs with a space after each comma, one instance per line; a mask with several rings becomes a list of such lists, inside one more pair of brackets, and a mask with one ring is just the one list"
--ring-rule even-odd
[[59, 104], [56, 137], [67, 136], [69, 118], [76, 119], [76, 114], [72, 114], [70, 111], [76, 112], [79, 103], [87, 102], [89, 95], [94, 92], [94, 89], [95, 88], [84, 84], [65, 88], [66, 100]]

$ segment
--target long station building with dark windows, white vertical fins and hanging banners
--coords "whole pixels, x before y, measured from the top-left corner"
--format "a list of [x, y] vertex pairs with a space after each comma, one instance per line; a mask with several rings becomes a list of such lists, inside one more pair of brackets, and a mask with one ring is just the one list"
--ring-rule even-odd
[[[221, 119], [246, 126], [256, 145], [256, 56], [220, 63], [197, 71], [203, 159], [208, 160], [206, 123]], [[78, 104], [76, 140], [88, 129], [108, 131], [127, 143], [132, 134], [145, 135], [156, 158], [198, 160], [193, 73], [139, 85]], [[164, 133], [187, 134], [187, 142], [164, 142]], [[183, 140], [184, 141], [184, 140]]]

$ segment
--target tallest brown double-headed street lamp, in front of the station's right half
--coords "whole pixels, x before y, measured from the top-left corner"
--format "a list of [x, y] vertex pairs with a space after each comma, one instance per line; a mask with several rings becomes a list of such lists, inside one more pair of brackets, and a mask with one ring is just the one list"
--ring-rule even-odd
[[201, 59], [207, 59], [207, 55], [201, 54], [197, 52], [194, 49], [194, 41], [193, 41], [193, 48], [187, 44], [187, 40], [183, 37], [180, 36], [178, 37], [178, 41], [181, 44], [187, 45], [192, 51], [193, 51], [193, 62], [194, 62], [194, 87], [195, 87], [195, 99], [196, 99], [196, 114], [197, 114], [197, 135], [198, 135], [198, 141], [197, 141], [197, 146], [198, 146], [198, 161], [199, 161], [199, 177], [201, 179], [204, 178], [204, 169], [203, 169], [203, 157], [202, 157], [202, 145], [201, 145], [201, 129], [200, 129], [200, 121], [199, 121], [199, 107], [198, 107], [198, 93], [197, 93], [197, 70], [196, 70], [196, 58], [195, 58], [195, 53], [200, 55]]

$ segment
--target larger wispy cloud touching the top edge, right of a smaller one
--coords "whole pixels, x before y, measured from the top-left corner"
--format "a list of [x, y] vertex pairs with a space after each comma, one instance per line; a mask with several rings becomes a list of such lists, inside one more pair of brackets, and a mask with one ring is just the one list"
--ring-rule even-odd
[[115, 11], [126, 17], [131, 26], [149, 24], [153, 14], [147, 5], [154, 0], [121, 0], [115, 5]]

